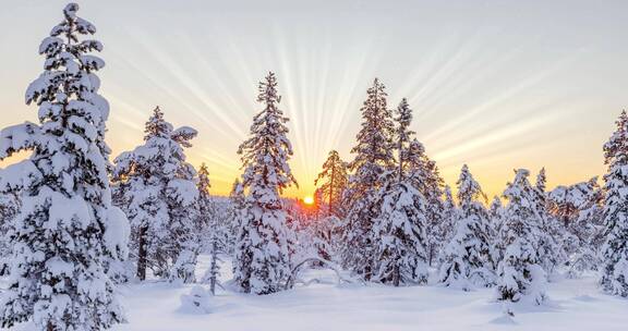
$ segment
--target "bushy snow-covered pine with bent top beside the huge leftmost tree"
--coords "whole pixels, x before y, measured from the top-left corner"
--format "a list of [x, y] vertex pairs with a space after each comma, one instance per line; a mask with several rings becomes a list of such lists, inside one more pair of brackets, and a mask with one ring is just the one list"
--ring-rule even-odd
[[198, 189], [184, 148], [195, 136], [188, 126], [173, 130], [157, 107], [146, 122], [144, 144], [114, 160], [112, 180], [131, 221], [140, 280], [152, 269], [157, 277], [194, 281], [196, 217], [190, 210]]

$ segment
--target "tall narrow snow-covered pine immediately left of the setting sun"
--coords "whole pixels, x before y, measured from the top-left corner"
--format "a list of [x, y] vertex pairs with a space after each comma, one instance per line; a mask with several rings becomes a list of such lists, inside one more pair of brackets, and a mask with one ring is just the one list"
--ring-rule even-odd
[[242, 187], [249, 195], [235, 243], [234, 281], [245, 293], [281, 291], [290, 275], [288, 214], [279, 195], [297, 181], [288, 166], [292, 146], [280, 100], [270, 72], [259, 83], [257, 101], [264, 109], [253, 118], [251, 136], [238, 149], [244, 168]]

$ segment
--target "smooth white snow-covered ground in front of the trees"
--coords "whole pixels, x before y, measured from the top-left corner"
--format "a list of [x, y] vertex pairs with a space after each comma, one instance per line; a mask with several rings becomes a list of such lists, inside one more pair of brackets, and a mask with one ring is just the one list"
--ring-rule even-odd
[[[202, 256], [200, 275], [207, 262]], [[222, 273], [224, 280], [231, 277], [228, 265]], [[181, 309], [181, 296], [193, 285], [126, 285], [122, 293], [129, 323], [113, 330], [628, 330], [628, 301], [600, 293], [594, 277], [551, 283], [551, 301], [545, 306], [516, 306], [511, 319], [492, 301], [490, 289], [461, 292], [437, 285], [338, 285], [335, 273], [327, 270], [309, 271], [304, 278], [322, 282], [266, 296], [219, 290], [212, 298], [213, 312], [206, 315]], [[27, 326], [15, 329], [29, 330]]]

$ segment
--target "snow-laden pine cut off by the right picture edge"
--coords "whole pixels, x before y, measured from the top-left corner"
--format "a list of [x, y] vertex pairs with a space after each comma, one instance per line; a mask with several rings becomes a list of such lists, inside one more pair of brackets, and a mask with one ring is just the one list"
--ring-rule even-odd
[[628, 296], [628, 115], [621, 111], [617, 128], [604, 145], [608, 171], [604, 175], [606, 243], [600, 283], [604, 292]]

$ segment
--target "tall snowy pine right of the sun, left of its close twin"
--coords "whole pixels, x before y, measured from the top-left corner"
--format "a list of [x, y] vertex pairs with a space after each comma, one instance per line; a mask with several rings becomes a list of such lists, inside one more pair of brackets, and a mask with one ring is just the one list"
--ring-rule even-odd
[[372, 228], [382, 212], [378, 194], [386, 183], [384, 175], [395, 167], [395, 125], [386, 96], [384, 84], [375, 78], [360, 110], [362, 127], [357, 136], [358, 145], [351, 149], [355, 158], [349, 164], [353, 174], [343, 196], [347, 217], [341, 260], [347, 269], [364, 280], [370, 280], [376, 272]]

